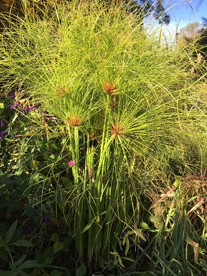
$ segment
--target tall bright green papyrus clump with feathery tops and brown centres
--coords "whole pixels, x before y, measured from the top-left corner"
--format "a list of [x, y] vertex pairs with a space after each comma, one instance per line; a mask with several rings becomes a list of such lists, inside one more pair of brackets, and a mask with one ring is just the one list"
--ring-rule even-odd
[[109, 260], [126, 231], [142, 237], [139, 197], [150, 183], [201, 167], [202, 77], [188, 52], [158, 46], [127, 6], [63, 1], [12, 22], [1, 35], [3, 89], [21, 83], [64, 128], [78, 259]]

